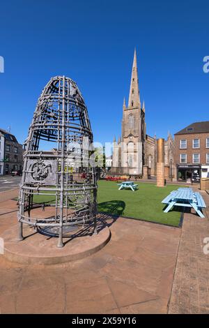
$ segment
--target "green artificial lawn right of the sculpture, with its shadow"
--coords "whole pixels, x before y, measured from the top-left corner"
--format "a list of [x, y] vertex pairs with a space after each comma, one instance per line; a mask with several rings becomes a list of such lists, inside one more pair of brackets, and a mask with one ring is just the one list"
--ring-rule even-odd
[[118, 191], [118, 184], [115, 181], [100, 180], [98, 211], [166, 225], [179, 225], [180, 211], [174, 207], [169, 213], [164, 213], [164, 204], [162, 204], [164, 197], [179, 186], [169, 184], [164, 188], [158, 188], [155, 184], [139, 181], [136, 184], [139, 188], [137, 191], [130, 189]]

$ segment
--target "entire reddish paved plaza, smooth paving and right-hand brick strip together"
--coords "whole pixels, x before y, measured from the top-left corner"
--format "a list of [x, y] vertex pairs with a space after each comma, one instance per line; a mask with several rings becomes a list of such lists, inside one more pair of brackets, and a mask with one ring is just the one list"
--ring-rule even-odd
[[[11, 200], [16, 195], [17, 190], [1, 197], [0, 236], [17, 224]], [[208, 205], [209, 195], [203, 197]], [[205, 219], [185, 214], [182, 229], [104, 217], [109, 243], [67, 264], [17, 264], [1, 255], [0, 311], [209, 313], [209, 255], [203, 253], [208, 208], [205, 214]]]

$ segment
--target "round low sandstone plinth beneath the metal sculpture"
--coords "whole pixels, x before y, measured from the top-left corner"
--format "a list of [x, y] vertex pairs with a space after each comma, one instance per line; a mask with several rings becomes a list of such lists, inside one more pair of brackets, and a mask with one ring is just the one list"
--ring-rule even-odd
[[17, 225], [1, 234], [6, 259], [22, 264], [58, 264], [86, 258], [104, 247], [110, 237], [104, 226], [96, 235], [84, 234], [63, 239], [65, 246], [57, 248], [56, 237], [46, 237], [24, 225], [24, 240], [17, 241]]

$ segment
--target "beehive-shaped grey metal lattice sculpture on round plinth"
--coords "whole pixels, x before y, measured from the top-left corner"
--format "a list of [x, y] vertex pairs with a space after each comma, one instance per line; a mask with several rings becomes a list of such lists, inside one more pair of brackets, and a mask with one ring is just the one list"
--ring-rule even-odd
[[63, 246], [65, 233], [75, 227], [91, 225], [97, 233], [92, 142], [87, 108], [77, 84], [65, 76], [52, 77], [38, 99], [24, 144], [17, 214], [20, 240], [23, 224], [59, 237], [58, 247]]

